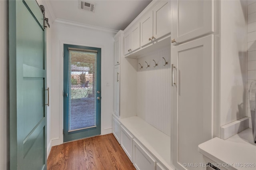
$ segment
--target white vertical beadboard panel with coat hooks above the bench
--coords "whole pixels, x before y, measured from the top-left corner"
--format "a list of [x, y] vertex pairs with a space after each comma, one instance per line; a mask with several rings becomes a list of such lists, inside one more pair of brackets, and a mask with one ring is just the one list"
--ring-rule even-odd
[[[163, 57], [168, 64], [165, 64]], [[156, 61], [157, 66], [155, 66]], [[150, 65], [148, 68], [146, 62]], [[142, 69], [140, 69], [140, 64]], [[154, 67], [155, 66], [155, 67]], [[137, 115], [170, 136], [171, 64], [170, 47], [138, 58]]]

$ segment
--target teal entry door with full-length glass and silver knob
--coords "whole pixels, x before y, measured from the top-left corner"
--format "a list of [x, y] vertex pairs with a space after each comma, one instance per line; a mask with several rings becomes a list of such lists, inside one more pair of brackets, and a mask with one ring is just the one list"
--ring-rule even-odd
[[63, 142], [100, 134], [101, 49], [64, 44]]

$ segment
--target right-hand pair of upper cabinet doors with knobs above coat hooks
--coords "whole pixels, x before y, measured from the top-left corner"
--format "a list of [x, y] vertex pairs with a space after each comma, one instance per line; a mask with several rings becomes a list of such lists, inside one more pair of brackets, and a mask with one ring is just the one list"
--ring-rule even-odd
[[170, 1], [159, 1], [140, 20], [140, 45], [146, 45], [171, 32]]

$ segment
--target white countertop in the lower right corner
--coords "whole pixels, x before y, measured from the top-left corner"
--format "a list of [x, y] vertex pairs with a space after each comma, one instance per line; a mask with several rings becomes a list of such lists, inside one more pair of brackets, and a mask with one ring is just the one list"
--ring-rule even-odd
[[198, 145], [198, 151], [216, 163], [228, 164], [224, 167], [228, 170], [256, 170], [256, 144], [251, 128], [226, 140], [208, 140]]

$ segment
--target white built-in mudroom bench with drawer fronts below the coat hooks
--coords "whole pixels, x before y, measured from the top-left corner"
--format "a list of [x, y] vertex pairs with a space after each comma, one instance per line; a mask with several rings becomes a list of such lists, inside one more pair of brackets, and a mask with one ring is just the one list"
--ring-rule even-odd
[[170, 136], [134, 116], [113, 115], [113, 134], [138, 170], [172, 170]]

